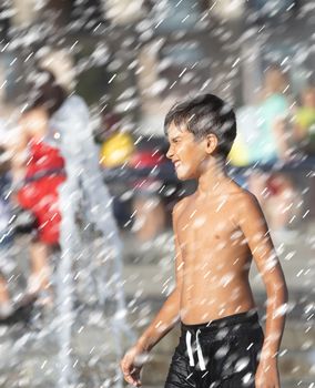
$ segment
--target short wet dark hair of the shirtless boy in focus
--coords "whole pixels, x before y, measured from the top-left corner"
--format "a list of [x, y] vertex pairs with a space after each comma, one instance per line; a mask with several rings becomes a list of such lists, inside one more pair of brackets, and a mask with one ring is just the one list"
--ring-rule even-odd
[[196, 141], [209, 134], [217, 137], [217, 154], [226, 159], [236, 137], [236, 119], [233, 109], [214, 94], [202, 94], [171, 108], [164, 120], [164, 133], [170, 124], [185, 127]]

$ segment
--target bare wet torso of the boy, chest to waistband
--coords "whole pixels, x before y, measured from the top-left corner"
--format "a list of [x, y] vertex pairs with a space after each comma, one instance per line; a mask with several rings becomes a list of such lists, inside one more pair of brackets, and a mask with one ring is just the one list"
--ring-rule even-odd
[[[200, 324], [255, 307], [248, 283], [251, 251], [237, 225], [234, 194], [182, 201], [174, 216], [181, 320]], [[240, 200], [238, 200], [240, 201]]]

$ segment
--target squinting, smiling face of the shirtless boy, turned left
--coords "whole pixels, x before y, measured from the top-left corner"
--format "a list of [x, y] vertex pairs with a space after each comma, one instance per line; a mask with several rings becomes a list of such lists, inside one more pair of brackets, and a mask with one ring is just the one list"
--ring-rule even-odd
[[167, 130], [170, 147], [166, 156], [173, 162], [179, 180], [197, 178], [202, 162], [207, 156], [205, 140], [196, 141], [186, 129], [179, 129], [173, 122]]

